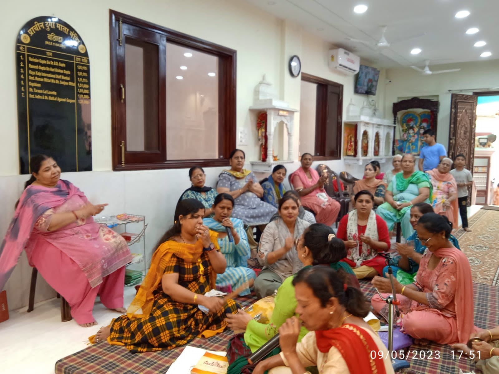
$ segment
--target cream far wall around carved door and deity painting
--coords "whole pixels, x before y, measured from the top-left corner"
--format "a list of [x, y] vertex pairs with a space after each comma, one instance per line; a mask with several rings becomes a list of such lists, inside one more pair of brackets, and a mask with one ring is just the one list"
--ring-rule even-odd
[[[393, 118], [392, 104], [398, 98], [437, 95], [440, 102], [437, 142], [442, 143], [447, 149], [451, 114], [449, 90], [467, 90], [460, 93], [471, 95], [473, 91], [486, 91], [486, 88], [499, 87], [499, 60], [434, 65], [431, 68], [433, 70], [461, 68], [461, 71], [421, 75], [411, 68], [387, 69], [386, 78], [392, 82], [386, 85], [385, 117]], [[398, 131], [399, 129], [397, 134]]]

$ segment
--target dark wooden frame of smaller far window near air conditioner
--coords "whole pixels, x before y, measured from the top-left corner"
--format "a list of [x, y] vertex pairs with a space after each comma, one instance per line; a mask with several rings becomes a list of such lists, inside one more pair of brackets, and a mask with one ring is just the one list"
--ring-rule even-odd
[[[314, 161], [341, 160], [341, 145], [343, 140], [343, 85], [315, 75], [301, 73], [301, 80], [317, 84], [317, 97], [315, 104], [315, 150]], [[335, 89], [339, 95], [338, 120], [336, 123], [336, 152], [334, 156], [324, 156], [326, 153], [326, 131], [328, 111], [328, 91]], [[332, 129], [334, 131], [334, 129]], [[317, 156], [317, 153], [319, 155]]]

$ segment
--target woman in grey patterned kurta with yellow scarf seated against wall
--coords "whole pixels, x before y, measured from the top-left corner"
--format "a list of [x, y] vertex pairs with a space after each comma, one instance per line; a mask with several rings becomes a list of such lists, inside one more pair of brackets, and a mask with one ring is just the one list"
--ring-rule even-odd
[[218, 193], [229, 193], [236, 204], [232, 211], [234, 218], [239, 218], [248, 226], [265, 224], [277, 209], [260, 200], [263, 188], [249, 170], [243, 169], [245, 153], [234, 150], [230, 156], [231, 169], [224, 170], [219, 176]]

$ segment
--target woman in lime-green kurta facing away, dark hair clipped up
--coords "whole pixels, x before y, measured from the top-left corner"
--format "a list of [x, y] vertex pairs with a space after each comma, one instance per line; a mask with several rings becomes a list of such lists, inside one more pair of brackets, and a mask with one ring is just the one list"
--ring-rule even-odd
[[[296, 246], [298, 258], [306, 266], [329, 265], [337, 271], [345, 274], [347, 283], [358, 287], [358, 281], [350, 266], [340, 262], [346, 256], [345, 245], [342, 240], [337, 239], [331, 227], [322, 223], [314, 223], [305, 229]], [[346, 266], [345, 266], [346, 265]], [[350, 274], [351, 276], [348, 276]], [[227, 316], [229, 326], [234, 330], [245, 330], [245, 344], [251, 352], [255, 352], [270, 338], [277, 334], [279, 327], [286, 319], [295, 315], [296, 299], [292, 285], [294, 275], [286, 278], [277, 290], [275, 307], [268, 324], [261, 324], [252, 320], [248, 313], [239, 311], [238, 314]], [[352, 284], [353, 283], [353, 284]], [[302, 327], [298, 341], [308, 331]]]

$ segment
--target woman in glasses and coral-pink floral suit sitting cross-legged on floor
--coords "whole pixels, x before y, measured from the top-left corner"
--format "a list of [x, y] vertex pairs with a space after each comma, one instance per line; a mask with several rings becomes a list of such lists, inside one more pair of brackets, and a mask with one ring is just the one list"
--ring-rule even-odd
[[[477, 330], [473, 325], [470, 263], [449, 241], [452, 224], [447, 217], [426, 213], [416, 230], [428, 251], [421, 259], [414, 283], [404, 286], [394, 280], [401, 311], [397, 325], [415, 339], [439, 344], [466, 343]], [[391, 293], [389, 279], [375, 277], [372, 284], [380, 292]], [[388, 317], [387, 304], [379, 295], [372, 298], [371, 304], [376, 312]]]

